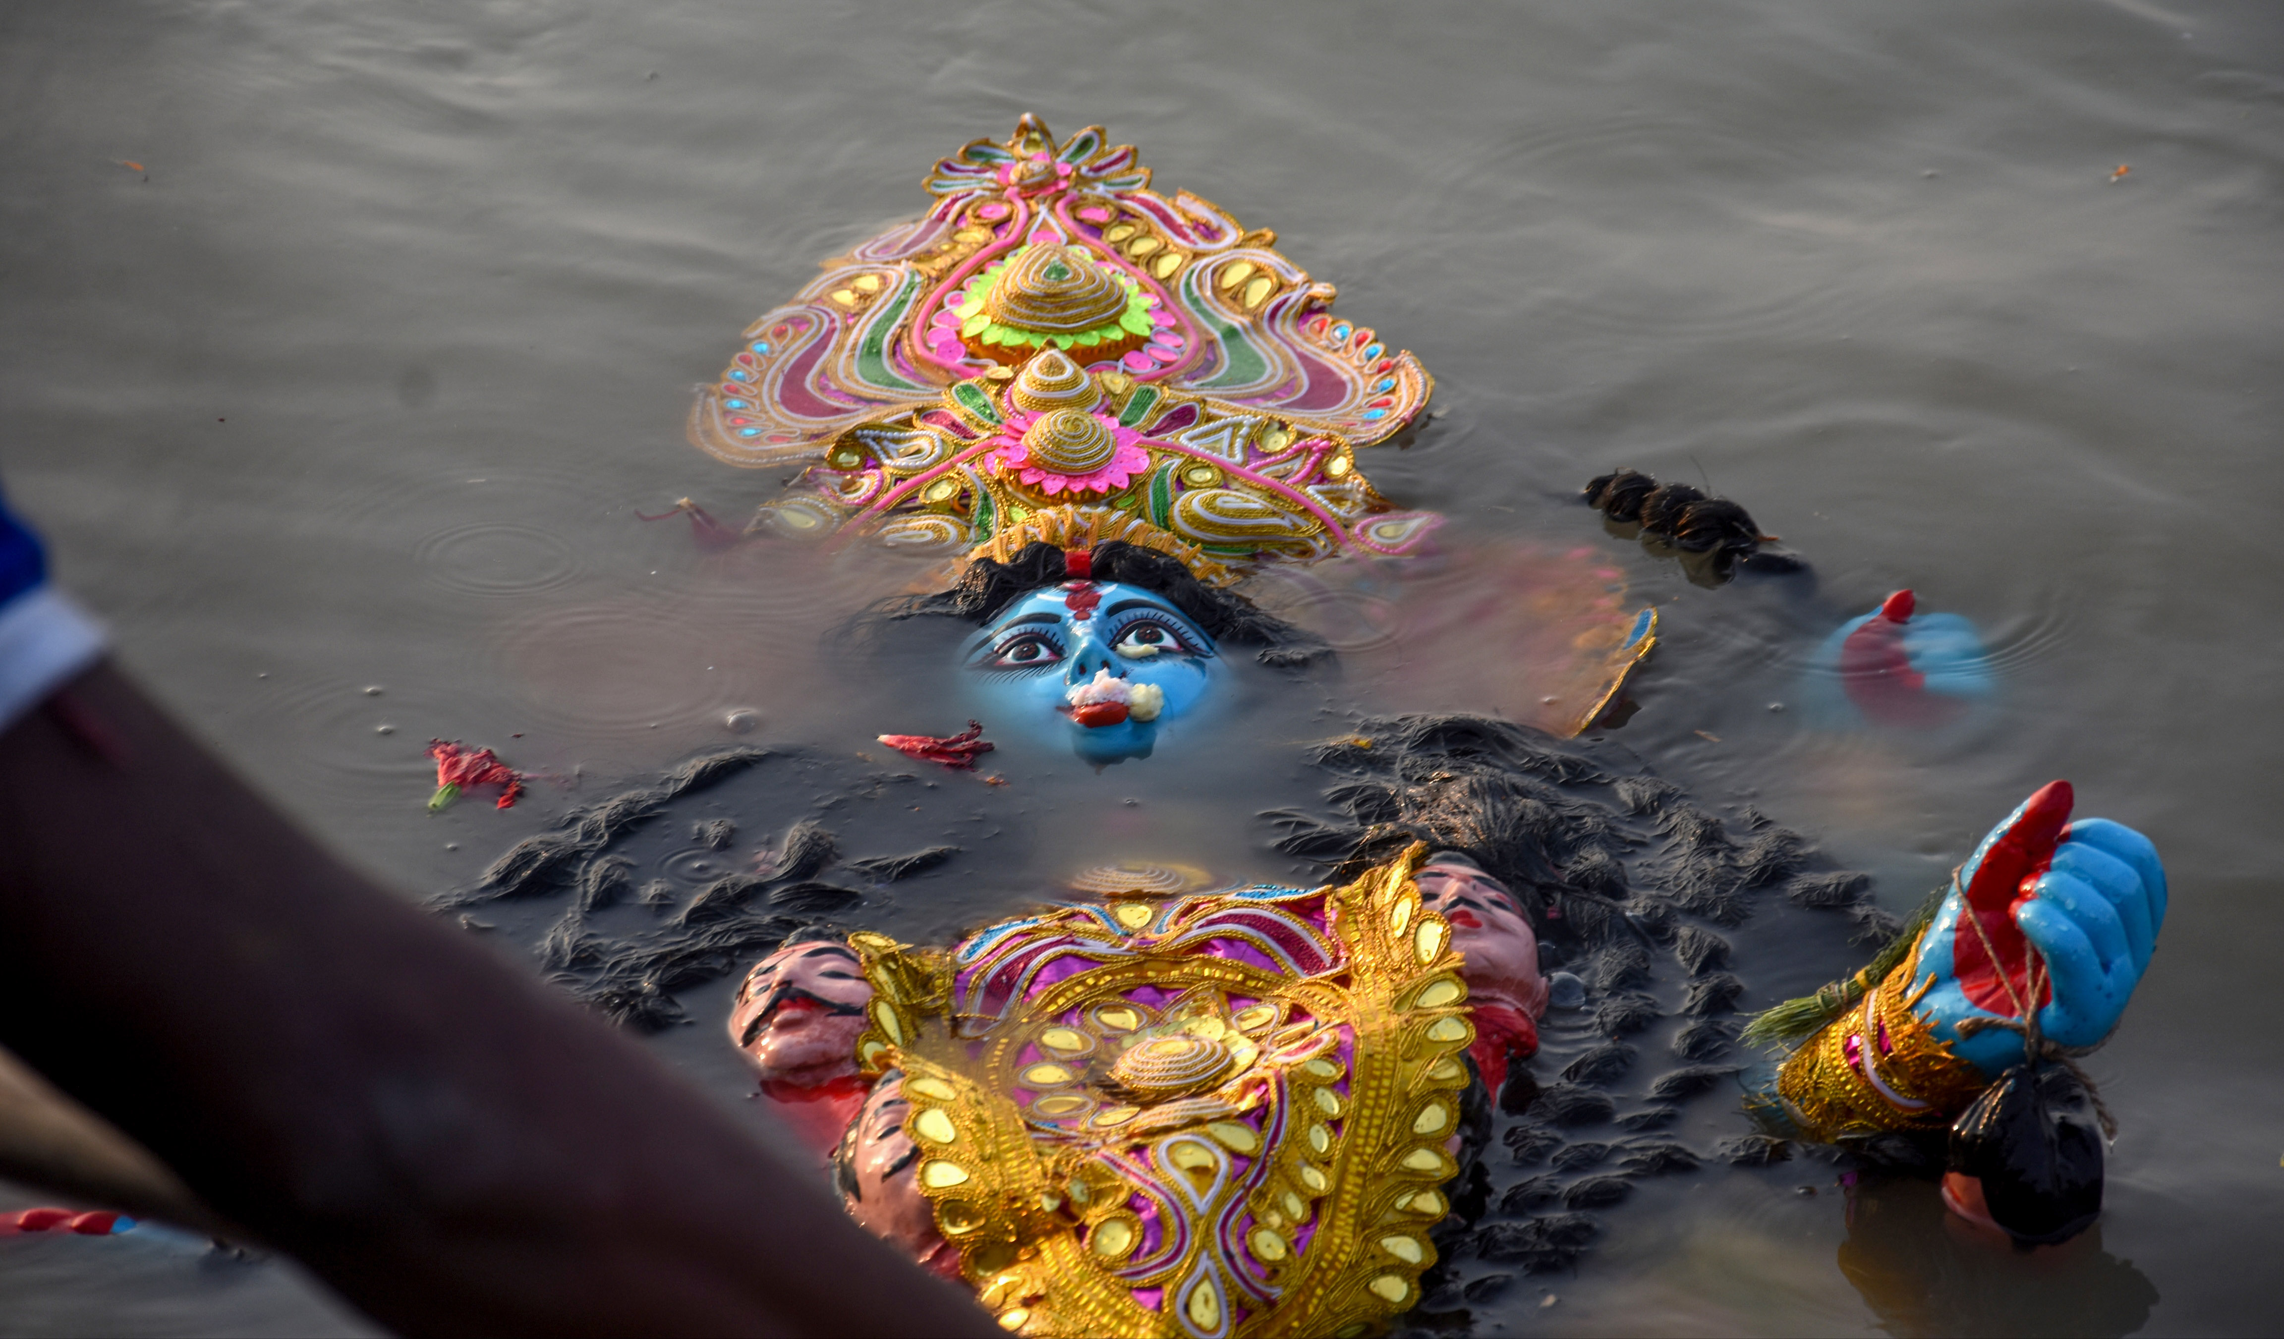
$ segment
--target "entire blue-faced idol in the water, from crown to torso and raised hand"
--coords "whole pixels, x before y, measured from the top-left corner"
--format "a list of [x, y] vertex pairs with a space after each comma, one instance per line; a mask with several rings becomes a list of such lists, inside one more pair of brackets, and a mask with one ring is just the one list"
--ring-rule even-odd
[[[1432, 382], [1336, 320], [1332, 286], [1270, 233], [1151, 192], [1099, 128], [1057, 144], [1030, 117], [939, 162], [927, 190], [925, 219], [831, 260], [747, 331], [690, 432], [735, 464], [806, 466], [754, 532], [879, 544], [948, 585], [886, 612], [975, 624], [959, 663], [994, 729], [1099, 765], [1211, 740], [1195, 727], [1233, 654], [1327, 654], [1242, 583], [1427, 555], [1439, 516], [1391, 505], [1357, 455], [1398, 439]], [[1734, 537], [1708, 544], [1736, 560], [1766, 537], [1731, 512]], [[1569, 642], [1574, 690], [1544, 697], [1555, 733], [1606, 720], [1654, 644], [1654, 612], [1628, 615], [1610, 576], [1594, 606], [1608, 626]], [[1900, 656], [1903, 683], [1921, 667], [1898, 644], [1880, 665]], [[1475, 1229], [1494, 1108], [1526, 1117], [1501, 1136], [1526, 1163], [1562, 1145], [1558, 1126], [1658, 1131], [1676, 1101], [1731, 1083], [1736, 1067], [1695, 1065], [1626, 1115], [1592, 1092], [1667, 1010], [1695, 1015], [1676, 1056], [1740, 1040], [1715, 1017], [1743, 994], [1720, 930], [1807, 843], [1740, 848], [1679, 788], [1530, 743], [1546, 736], [1407, 720], [1366, 722], [1402, 724], [1407, 745], [1382, 731], [1318, 749], [1345, 772], [1327, 795], [1354, 829], [1277, 816], [1295, 829], [1279, 850], [1336, 866], [1329, 882], [1119, 866], [943, 948], [811, 928], [749, 973], [731, 1035], [765, 1092], [834, 1138], [850, 1211], [975, 1286], [1010, 1332], [1352, 1337], [1421, 1302], [1462, 1245], [1567, 1266], [1590, 1227], [1537, 1209], [1613, 1204], [1626, 1165], [1697, 1154], [1633, 1142], [1610, 1174], [1510, 1186], [1510, 1220]], [[1613, 800], [1562, 791], [1587, 784]], [[1793, 1047], [1750, 1083], [1754, 1147], [1921, 1147], [1921, 1165], [1948, 1158], [1946, 1202], [1992, 1232], [2046, 1243], [2090, 1222], [2101, 1145], [2069, 1056], [2138, 985], [2165, 877], [2140, 834], [2069, 823], [2069, 807], [2067, 786], [2040, 791], [1871, 967], [1743, 1035]], [[1644, 864], [1644, 848], [1660, 855]], [[715, 919], [765, 884], [699, 893], [687, 951], [751, 944], [758, 921]], [[1857, 884], [1791, 891], [1896, 930]], [[767, 900], [861, 896], [786, 884]], [[1585, 978], [1549, 971], [1565, 955]], [[1686, 973], [1679, 1005], [1647, 994], [1654, 962]], [[656, 994], [656, 973], [610, 989]], [[1606, 1040], [1542, 1092], [1539, 1024], [1581, 1001]], [[1553, 1161], [1610, 1156], [1576, 1142]]]

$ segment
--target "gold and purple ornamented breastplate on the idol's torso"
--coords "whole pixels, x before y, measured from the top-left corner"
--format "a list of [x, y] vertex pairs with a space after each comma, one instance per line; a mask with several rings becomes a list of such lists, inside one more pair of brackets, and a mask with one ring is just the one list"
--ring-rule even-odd
[[1112, 896], [950, 955], [852, 939], [893, 999], [861, 1056], [904, 1072], [920, 1190], [1000, 1325], [1352, 1339], [1418, 1300], [1473, 1040], [1425, 855]]

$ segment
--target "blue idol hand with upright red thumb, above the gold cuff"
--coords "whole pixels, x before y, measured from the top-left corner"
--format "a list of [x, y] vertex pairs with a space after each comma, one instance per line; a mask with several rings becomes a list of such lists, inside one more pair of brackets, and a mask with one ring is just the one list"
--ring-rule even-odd
[[2140, 985], [2165, 923], [2165, 866], [2147, 836], [2108, 818], [2069, 823], [2067, 781], [1992, 829], [1928, 925], [1914, 980], [1939, 1037], [1985, 1074], [2024, 1056], [2012, 1028], [2037, 992], [2037, 1028], [2062, 1047], [2106, 1037]]

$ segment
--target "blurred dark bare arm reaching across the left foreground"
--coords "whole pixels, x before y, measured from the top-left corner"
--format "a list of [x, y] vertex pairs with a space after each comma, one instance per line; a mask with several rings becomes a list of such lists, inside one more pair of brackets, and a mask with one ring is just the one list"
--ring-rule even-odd
[[0, 736], [0, 1044], [397, 1330], [998, 1332], [107, 665]]

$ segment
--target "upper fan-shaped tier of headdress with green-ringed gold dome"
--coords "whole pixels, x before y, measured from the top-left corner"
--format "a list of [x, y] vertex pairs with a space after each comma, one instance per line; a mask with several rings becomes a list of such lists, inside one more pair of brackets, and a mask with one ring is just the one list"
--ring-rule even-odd
[[927, 174], [927, 217], [825, 263], [745, 331], [699, 393], [690, 441], [747, 466], [815, 459], [843, 430], [1055, 347], [1135, 382], [1304, 416], [1357, 446], [1393, 436], [1434, 382], [1332, 315], [1334, 286], [1190, 192], [1149, 190], [1101, 126], [1037, 117]]

